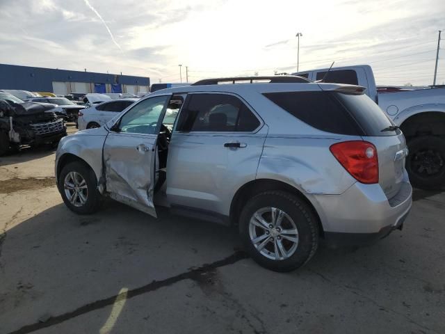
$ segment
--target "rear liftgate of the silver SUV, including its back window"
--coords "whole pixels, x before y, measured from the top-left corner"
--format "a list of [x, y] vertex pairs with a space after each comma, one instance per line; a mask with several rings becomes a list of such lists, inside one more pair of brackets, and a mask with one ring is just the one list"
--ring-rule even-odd
[[401, 189], [407, 147], [405, 136], [386, 114], [364, 94], [334, 93], [341, 104], [362, 127], [365, 141], [378, 152], [379, 184], [388, 199]]

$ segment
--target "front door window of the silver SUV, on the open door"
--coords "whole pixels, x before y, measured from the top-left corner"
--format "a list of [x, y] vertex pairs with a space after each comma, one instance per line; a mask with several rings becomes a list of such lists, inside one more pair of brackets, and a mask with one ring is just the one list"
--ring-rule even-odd
[[170, 96], [156, 96], [133, 106], [120, 119], [120, 132], [131, 134], [156, 134], [159, 116]]

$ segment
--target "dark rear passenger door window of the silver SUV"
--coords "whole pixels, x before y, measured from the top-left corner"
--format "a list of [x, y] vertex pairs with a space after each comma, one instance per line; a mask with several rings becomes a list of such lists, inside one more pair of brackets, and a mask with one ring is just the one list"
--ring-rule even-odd
[[193, 94], [181, 111], [178, 131], [252, 132], [260, 122], [241, 100], [226, 94]]

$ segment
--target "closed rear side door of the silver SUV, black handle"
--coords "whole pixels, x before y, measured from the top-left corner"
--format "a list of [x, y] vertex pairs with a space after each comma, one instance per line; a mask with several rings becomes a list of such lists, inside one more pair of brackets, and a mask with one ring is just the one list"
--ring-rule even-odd
[[262, 125], [236, 95], [188, 94], [168, 152], [172, 206], [228, 214], [234, 189], [254, 180], [267, 134]]

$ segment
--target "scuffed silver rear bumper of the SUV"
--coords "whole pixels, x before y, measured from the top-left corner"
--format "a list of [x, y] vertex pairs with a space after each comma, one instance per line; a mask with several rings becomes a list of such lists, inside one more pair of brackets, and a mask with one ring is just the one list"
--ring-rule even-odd
[[405, 171], [401, 189], [388, 200], [379, 184], [353, 184], [340, 195], [315, 195], [327, 244], [359, 246], [400, 228], [412, 206], [412, 187]]

